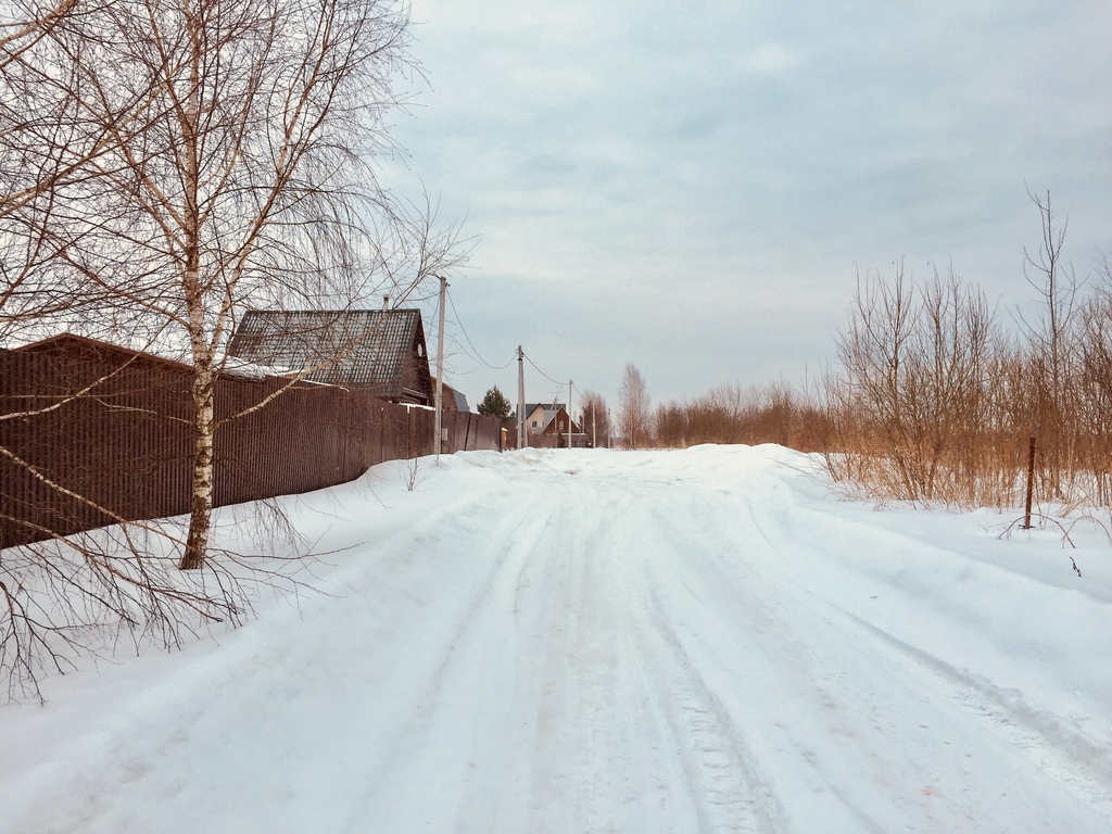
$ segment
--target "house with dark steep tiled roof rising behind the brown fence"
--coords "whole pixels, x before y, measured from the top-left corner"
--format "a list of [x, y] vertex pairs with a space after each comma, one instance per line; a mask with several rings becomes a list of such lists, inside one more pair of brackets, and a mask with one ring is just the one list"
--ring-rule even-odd
[[393, 403], [431, 406], [436, 398], [420, 310], [249, 310], [228, 355]]

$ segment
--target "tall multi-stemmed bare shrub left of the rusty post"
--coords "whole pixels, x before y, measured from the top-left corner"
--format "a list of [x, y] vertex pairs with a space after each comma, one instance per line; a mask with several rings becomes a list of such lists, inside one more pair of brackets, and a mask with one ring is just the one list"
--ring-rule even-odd
[[827, 379], [835, 478], [905, 500], [975, 500], [991, 471], [991, 371], [999, 336], [984, 296], [953, 270], [919, 286], [902, 264], [890, 281], [858, 284]]

